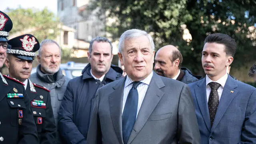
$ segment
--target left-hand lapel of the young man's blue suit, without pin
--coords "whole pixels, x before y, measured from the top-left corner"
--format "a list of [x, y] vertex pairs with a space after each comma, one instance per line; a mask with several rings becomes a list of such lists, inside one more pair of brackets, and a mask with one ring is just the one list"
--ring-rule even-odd
[[210, 122], [210, 114], [208, 110], [208, 102], [206, 98], [206, 80], [205, 78], [201, 81], [201, 83], [197, 84], [197, 88], [195, 88], [195, 95], [197, 99], [198, 106], [202, 113], [202, 117], [204, 118], [204, 122], [210, 132], [211, 130], [211, 122]]

